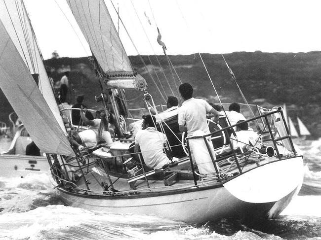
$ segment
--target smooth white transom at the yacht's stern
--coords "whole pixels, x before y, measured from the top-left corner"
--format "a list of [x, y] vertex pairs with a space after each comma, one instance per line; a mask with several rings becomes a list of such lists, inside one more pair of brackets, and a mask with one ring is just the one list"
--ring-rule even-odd
[[[270, 162], [224, 183], [236, 198], [247, 203], [273, 203], [298, 192], [303, 182], [303, 157]], [[293, 197], [293, 196], [292, 196]]]

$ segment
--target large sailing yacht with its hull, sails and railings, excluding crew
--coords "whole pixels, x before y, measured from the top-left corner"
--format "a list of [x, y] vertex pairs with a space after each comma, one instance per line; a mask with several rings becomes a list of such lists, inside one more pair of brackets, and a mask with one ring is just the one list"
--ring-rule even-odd
[[[3, 2], [6, 14], [12, 11], [12, 18], [25, 17], [22, 32], [29, 30], [37, 46], [23, 2], [18, 1], [19, 8], [12, 1]], [[4, 23], [2, 13], [0, 21], [0, 87], [30, 136], [46, 153], [53, 185], [64, 201], [100, 212], [155, 215], [187, 223], [223, 217], [278, 216], [303, 181], [303, 157], [292, 143], [281, 107], [266, 109], [247, 104], [253, 117], [246, 122], [260, 128], [260, 139], [265, 139], [260, 147], [249, 141], [244, 142], [248, 149], [235, 149], [230, 138], [237, 125], [230, 126], [226, 117], [220, 117], [220, 123], [215, 124], [208, 116], [210, 134], [183, 139], [180, 144], [187, 154], [173, 150], [178, 161], [161, 169], [148, 169], [141, 157], [133, 156], [134, 137], [129, 126], [137, 119], [128, 117], [124, 101], [124, 90], [142, 91], [145, 104], [156, 108], [147, 83], [132, 68], [104, 1], [67, 3], [93, 54], [93, 66], [102, 86], [101, 95], [95, 96], [104, 105], [102, 122], [115, 126], [111, 142], [102, 141], [81, 151], [70, 143], [79, 130], [68, 125], [67, 131], [57, 104], [52, 102], [52, 92], [47, 94], [51, 90], [47, 77], [40, 74], [41, 68], [30, 68], [26, 52], [17, 41], [19, 36]], [[34, 50], [39, 57], [39, 49]], [[42, 59], [38, 60], [39, 64]], [[32, 74], [39, 74], [39, 81]], [[177, 124], [176, 115], [160, 118], [157, 127], [167, 138], [180, 140]], [[199, 171], [194, 157], [197, 152], [189, 150], [192, 138], [206, 152], [203, 160], [213, 166], [212, 174]]]

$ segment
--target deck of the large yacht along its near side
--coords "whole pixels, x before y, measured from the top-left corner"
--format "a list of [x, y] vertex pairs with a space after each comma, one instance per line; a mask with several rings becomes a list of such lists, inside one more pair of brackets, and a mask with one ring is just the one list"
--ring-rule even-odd
[[[241, 166], [241, 172], [244, 173], [275, 161], [279, 161], [279, 159], [276, 157], [265, 157], [257, 162], [246, 163]], [[89, 165], [89, 167], [83, 169], [83, 173], [87, 181], [85, 182], [84, 178], [80, 174], [76, 184], [80, 192], [82, 190], [87, 190], [88, 186], [88, 193], [92, 192], [93, 194], [104, 194], [104, 192], [106, 193], [108, 191], [121, 193], [150, 193], [195, 188], [195, 182], [191, 170], [178, 170], [179, 167], [186, 168], [185, 165], [189, 164], [189, 159], [182, 160], [182, 162], [184, 163], [180, 166], [169, 168], [169, 170], [165, 172], [146, 172], [146, 174], [154, 173], [150, 176], [147, 176], [148, 182], [146, 181], [144, 174], [135, 176], [138, 178], [137, 180], [135, 177], [129, 177], [126, 173], [115, 173], [108, 171], [109, 174], [107, 174], [101, 166], [93, 162]], [[220, 164], [218, 164], [218, 166], [220, 166]], [[223, 179], [219, 179], [217, 176], [203, 177], [197, 180], [197, 185], [198, 187], [219, 186], [228, 181], [230, 178], [233, 178], [235, 175], [239, 174], [239, 172], [240, 171], [238, 168], [226, 171]], [[168, 175], [175, 173], [176, 176], [174, 176], [174, 179], [166, 182]], [[77, 190], [75, 189], [74, 191]]]

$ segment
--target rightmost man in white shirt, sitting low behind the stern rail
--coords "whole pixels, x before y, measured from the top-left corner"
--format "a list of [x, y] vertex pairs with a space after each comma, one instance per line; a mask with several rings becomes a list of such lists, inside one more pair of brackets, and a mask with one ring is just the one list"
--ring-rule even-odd
[[253, 130], [248, 130], [247, 122], [240, 120], [237, 124], [239, 124], [235, 132], [237, 139], [233, 134], [230, 137], [233, 148], [240, 147], [243, 151], [247, 151], [252, 146], [260, 147], [259, 136]]

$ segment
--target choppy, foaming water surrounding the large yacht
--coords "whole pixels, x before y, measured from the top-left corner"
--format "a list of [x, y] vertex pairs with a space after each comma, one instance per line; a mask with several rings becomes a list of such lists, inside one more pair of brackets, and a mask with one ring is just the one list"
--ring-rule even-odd
[[302, 141], [302, 189], [278, 219], [186, 225], [64, 206], [46, 175], [0, 177], [0, 239], [321, 240], [321, 139]]

